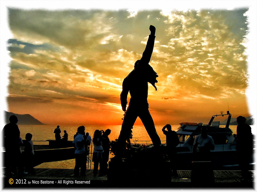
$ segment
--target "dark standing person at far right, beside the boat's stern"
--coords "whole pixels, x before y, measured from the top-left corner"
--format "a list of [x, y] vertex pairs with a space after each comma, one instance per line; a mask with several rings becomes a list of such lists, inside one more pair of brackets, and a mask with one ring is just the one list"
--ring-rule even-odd
[[241, 178], [248, 180], [250, 178], [249, 163], [251, 161], [253, 140], [250, 125], [246, 124], [246, 119], [243, 116], [236, 118], [236, 153], [238, 164], [241, 170]]

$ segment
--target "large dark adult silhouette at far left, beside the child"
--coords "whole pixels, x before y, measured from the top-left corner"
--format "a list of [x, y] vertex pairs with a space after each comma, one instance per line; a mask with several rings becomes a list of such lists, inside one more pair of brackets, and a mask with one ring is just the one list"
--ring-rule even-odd
[[18, 118], [15, 115], [11, 115], [9, 121], [10, 123], [6, 124], [3, 128], [6, 174], [16, 174], [16, 167], [19, 168], [19, 172], [23, 172], [25, 174], [21, 161], [20, 130], [17, 125]]

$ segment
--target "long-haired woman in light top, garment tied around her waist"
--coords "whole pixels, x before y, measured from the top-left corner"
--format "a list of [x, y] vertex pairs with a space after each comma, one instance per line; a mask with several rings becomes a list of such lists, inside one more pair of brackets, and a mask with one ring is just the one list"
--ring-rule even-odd
[[92, 161], [94, 162], [94, 176], [96, 176], [98, 172], [98, 165], [100, 167], [100, 175], [102, 175], [102, 162], [103, 162], [103, 146], [102, 146], [102, 141], [101, 141], [101, 135], [102, 133], [99, 130], [95, 130], [94, 132], [94, 137], [93, 137], [93, 144], [94, 144], [94, 152], [93, 152], [93, 159]]

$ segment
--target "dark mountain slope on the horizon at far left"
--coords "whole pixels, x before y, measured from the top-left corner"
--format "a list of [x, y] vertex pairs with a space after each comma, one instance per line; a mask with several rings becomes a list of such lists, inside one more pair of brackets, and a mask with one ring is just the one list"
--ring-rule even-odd
[[44, 123], [41, 123], [39, 120], [35, 119], [33, 116], [31, 116], [30, 114], [15, 114], [12, 112], [7, 112], [4, 111], [5, 113], [5, 123], [10, 123], [9, 118], [11, 115], [15, 115], [18, 118], [18, 123], [17, 125], [45, 125]]

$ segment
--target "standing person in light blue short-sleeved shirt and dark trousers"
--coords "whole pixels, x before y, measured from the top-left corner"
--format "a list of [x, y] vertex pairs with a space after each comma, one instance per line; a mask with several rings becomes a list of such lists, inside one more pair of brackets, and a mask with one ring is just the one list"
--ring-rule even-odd
[[79, 126], [78, 135], [74, 138], [72, 143], [75, 144], [75, 167], [74, 167], [74, 176], [79, 176], [79, 168], [80, 168], [80, 176], [86, 175], [86, 163], [87, 163], [87, 156], [85, 150], [85, 127]]

